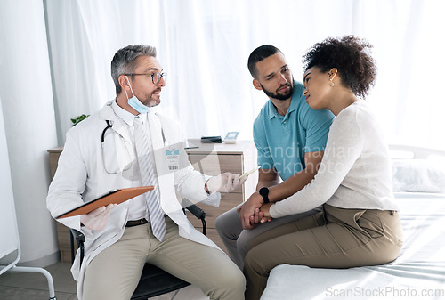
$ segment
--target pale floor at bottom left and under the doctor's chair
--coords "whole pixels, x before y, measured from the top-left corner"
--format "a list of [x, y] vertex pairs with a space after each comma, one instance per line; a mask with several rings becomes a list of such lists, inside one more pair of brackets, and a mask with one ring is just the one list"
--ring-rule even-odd
[[[46, 268], [54, 280], [57, 300], [77, 300], [76, 281], [69, 268], [71, 264], [57, 263]], [[0, 300], [49, 299], [48, 281], [43, 274], [30, 272], [5, 272], [0, 275]], [[206, 300], [199, 288], [189, 286], [150, 300]]]

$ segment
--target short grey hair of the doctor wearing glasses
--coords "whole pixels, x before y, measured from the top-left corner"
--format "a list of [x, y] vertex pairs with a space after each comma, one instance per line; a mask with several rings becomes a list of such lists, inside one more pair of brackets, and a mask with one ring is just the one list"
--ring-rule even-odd
[[111, 77], [116, 85], [116, 94], [122, 92], [119, 76], [133, 73], [136, 68], [136, 59], [140, 56], [156, 57], [156, 48], [150, 45], [127, 45], [117, 50], [111, 61]]

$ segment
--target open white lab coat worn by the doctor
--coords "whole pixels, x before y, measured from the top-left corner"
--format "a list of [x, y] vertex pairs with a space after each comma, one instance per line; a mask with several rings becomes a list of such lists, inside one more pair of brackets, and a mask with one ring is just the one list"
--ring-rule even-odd
[[[125, 174], [132, 169], [125, 170], [135, 159], [134, 148], [124, 121], [114, 113], [110, 106], [111, 103], [111, 101], [108, 102], [100, 111], [86, 118], [67, 133], [67, 141], [47, 197], [47, 207], [53, 217], [109, 191], [134, 186], [131, 175]], [[185, 140], [180, 125], [172, 119], [154, 112], [153, 109], [150, 109], [148, 119], [150, 130], [147, 130], [147, 133], [151, 137], [158, 170], [162, 209], [174, 223], [178, 224], [179, 234], [182, 237], [217, 248], [214, 242], [197, 231], [182, 213], [182, 207], [176, 198], [175, 191], [193, 202], [207, 201], [210, 205], [219, 205], [220, 193], [214, 193], [209, 197], [204, 190], [208, 176], [193, 170], [190, 165], [187, 153], [183, 149]], [[107, 126], [106, 120], [111, 122], [112, 128], [108, 129], [104, 157], [102, 158], [101, 134]], [[166, 166], [166, 149], [172, 147], [179, 148], [181, 160], [179, 170], [174, 172], [168, 171]], [[118, 171], [117, 174], [108, 174], [103, 166], [104, 161], [109, 173]], [[127, 221], [128, 207], [129, 201], [115, 207], [103, 231], [89, 231], [85, 227], [81, 228], [80, 216], [58, 220], [85, 234], [85, 258], [82, 268], [79, 271], [79, 253], [77, 253], [75, 263], [71, 268], [74, 279], [78, 281], [77, 295], [79, 299], [82, 297], [85, 266], [91, 262], [95, 255], [122, 237]]]

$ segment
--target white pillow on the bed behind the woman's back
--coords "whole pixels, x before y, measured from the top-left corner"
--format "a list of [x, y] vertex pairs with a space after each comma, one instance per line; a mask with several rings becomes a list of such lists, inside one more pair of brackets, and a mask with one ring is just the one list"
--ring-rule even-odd
[[393, 159], [392, 190], [445, 192], [445, 166], [426, 159]]

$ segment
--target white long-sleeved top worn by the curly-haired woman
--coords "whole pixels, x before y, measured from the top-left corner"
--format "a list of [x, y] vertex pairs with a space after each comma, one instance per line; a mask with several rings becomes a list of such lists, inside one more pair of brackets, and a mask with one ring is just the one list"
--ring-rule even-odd
[[384, 136], [364, 101], [332, 123], [319, 172], [311, 183], [271, 206], [271, 217], [295, 215], [327, 203], [334, 207], [397, 210]]

